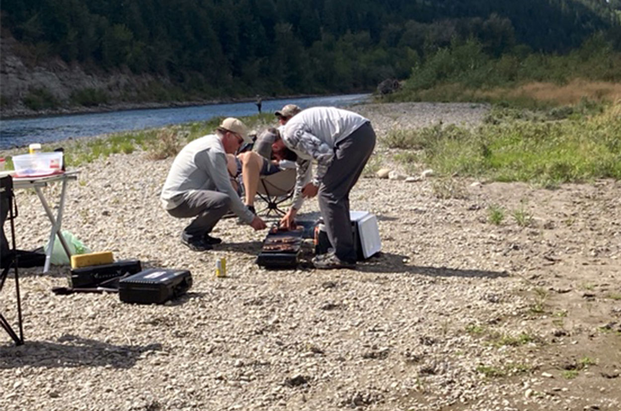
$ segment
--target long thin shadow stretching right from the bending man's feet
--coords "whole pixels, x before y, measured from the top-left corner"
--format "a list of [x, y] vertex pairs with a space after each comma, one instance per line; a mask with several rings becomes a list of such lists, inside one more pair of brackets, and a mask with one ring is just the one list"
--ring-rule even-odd
[[480, 277], [499, 278], [509, 277], [506, 271], [487, 271], [481, 269], [456, 269], [447, 267], [414, 266], [404, 263], [409, 260], [407, 256], [379, 253], [369, 260], [358, 263], [358, 271], [364, 273], [408, 273], [430, 277]]

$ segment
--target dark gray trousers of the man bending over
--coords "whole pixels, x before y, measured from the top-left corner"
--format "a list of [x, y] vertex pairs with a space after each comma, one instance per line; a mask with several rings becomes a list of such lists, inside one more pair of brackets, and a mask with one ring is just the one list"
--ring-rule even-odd
[[338, 142], [332, 164], [319, 187], [319, 209], [335, 254], [354, 263], [356, 253], [351, 232], [349, 193], [375, 147], [375, 132], [366, 123]]

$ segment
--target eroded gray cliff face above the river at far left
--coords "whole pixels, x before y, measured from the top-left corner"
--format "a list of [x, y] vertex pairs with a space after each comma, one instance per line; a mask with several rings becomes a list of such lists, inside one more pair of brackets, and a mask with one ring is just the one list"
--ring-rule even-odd
[[144, 101], [145, 90], [170, 86], [166, 78], [134, 75], [129, 70], [88, 72], [60, 58], [44, 63], [22, 50], [12, 37], [0, 39], [1, 116], [64, 114], [106, 109], [163, 106]]

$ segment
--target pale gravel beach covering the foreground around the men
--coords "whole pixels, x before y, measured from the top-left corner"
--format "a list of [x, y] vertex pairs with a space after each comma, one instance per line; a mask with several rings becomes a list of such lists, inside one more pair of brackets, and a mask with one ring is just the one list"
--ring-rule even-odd
[[[354, 110], [381, 139], [476, 125], [489, 107]], [[376, 156], [386, 152], [379, 143]], [[0, 333], [0, 410], [621, 409], [621, 182], [455, 179], [465, 196], [438, 199], [433, 174], [361, 178], [351, 209], [377, 216], [382, 252], [355, 271], [268, 271], [255, 264], [266, 232], [235, 219], [216, 226], [215, 250], [180, 243], [188, 220], [158, 201], [172, 160], [136, 151], [81, 166], [63, 228], [116, 260], [189, 269], [191, 290], [164, 305], [55, 296], [67, 266], [20, 269], [26, 342]], [[44, 245], [38, 197], [18, 191], [17, 203], [18, 248]], [[491, 206], [505, 209], [499, 225]], [[299, 219], [317, 216], [306, 201]], [[214, 275], [222, 256], [227, 278]], [[13, 290], [11, 276], [0, 294], [10, 320]]]

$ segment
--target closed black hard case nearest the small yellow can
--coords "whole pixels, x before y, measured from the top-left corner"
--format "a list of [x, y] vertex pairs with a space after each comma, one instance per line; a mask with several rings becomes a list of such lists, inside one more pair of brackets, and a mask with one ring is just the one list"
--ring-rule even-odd
[[150, 268], [119, 281], [122, 302], [161, 304], [185, 294], [192, 286], [192, 274], [186, 269]]

